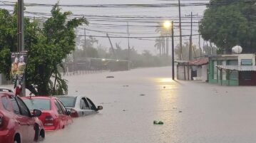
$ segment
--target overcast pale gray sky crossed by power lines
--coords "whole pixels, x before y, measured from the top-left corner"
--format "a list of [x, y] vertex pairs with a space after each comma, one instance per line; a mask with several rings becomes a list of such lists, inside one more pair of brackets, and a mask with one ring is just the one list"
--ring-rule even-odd
[[[5, 1], [13, 1], [13, 0], [5, 0]], [[57, 1], [54, 0], [24, 0], [24, 3], [36, 3], [36, 4], [55, 4]], [[157, 1], [157, 0], [60, 0], [60, 4], [67, 5], [94, 5], [95, 4], [178, 4], [178, 0], [169, 0], [169, 1]], [[181, 4], [185, 3], [202, 3], [208, 2], [203, 0], [198, 1], [188, 1], [188, 0], [180, 0]], [[1, 4], [1, 3], [0, 3]], [[6, 4], [6, 3], [5, 3]], [[6, 9], [12, 9], [9, 6], [1, 6]], [[150, 37], [150, 36], [159, 36], [158, 33], [155, 33], [155, 26], [158, 25], [157, 22], [163, 21], [160, 18], [163, 17], [168, 18], [170, 20], [174, 20], [178, 22], [178, 6], [170, 6], [170, 7], [87, 7], [87, 6], [63, 6], [62, 9], [64, 11], [72, 11], [73, 14], [76, 15], [86, 15], [88, 21], [90, 22], [89, 26], [81, 26], [79, 29], [79, 33], [83, 35], [83, 29], [86, 28], [86, 35], [91, 36], [106, 36], [106, 32], [109, 33], [110, 36], [127, 36], [127, 21], [116, 21], [120, 18], [116, 18], [116, 16], [144, 16], [150, 17], [148, 18], [148, 22], [141, 22], [142, 18], [136, 18], [135, 20], [129, 21], [129, 32], [131, 37]], [[203, 11], [205, 11], [205, 6], [182, 6], [181, 7], [181, 16], [185, 17], [189, 15], [191, 11], [193, 14], [198, 14], [198, 16], [203, 16]], [[27, 12], [39, 12], [39, 13], [47, 13], [50, 14], [51, 6], [27, 6]], [[25, 13], [26, 16], [43, 16], [43, 14], [28, 14]], [[134, 18], [133, 18], [134, 19]], [[113, 21], [114, 20], [114, 21]], [[140, 21], [140, 22], [139, 22]], [[154, 23], [152, 21], [155, 21]], [[183, 21], [189, 22], [190, 18], [183, 18]], [[198, 21], [198, 18], [195, 20]], [[190, 34], [190, 23], [183, 23], [183, 34]], [[194, 23], [193, 25], [198, 25], [198, 23]], [[178, 23], [175, 23], [175, 35], [178, 35]], [[198, 33], [198, 26], [193, 27], [193, 33]], [[98, 43], [110, 47], [110, 43], [108, 42], [108, 38], [97, 38]], [[188, 41], [189, 37], [183, 37], [183, 42]], [[128, 40], [127, 38], [111, 38], [112, 43], [120, 43], [122, 48], [128, 48]], [[152, 53], [158, 53], [156, 48], [154, 47], [155, 38], [130, 38], [130, 47], [134, 46], [137, 51], [149, 50]], [[198, 45], [198, 36], [193, 36], [193, 43]], [[202, 42], [203, 43], [203, 40]], [[178, 38], [175, 38], [175, 46], [178, 44]]]

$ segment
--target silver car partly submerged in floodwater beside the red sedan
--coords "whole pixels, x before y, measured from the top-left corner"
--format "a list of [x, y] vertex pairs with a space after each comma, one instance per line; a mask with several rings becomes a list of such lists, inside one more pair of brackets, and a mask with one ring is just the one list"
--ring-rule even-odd
[[56, 96], [63, 103], [68, 111], [71, 112], [71, 117], [83, 117], [86, 115], [95, 114], [98, 110], [102, 110], [102, 106], [96, 107], [94, 103], [86, 96], [78, 95], [62, 95]]

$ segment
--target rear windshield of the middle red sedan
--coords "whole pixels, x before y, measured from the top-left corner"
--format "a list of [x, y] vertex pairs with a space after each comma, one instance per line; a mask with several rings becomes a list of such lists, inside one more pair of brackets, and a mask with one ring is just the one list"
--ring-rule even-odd
[[46, 99], [24, 99], [29, 110], [51, 110], [50, 100]]

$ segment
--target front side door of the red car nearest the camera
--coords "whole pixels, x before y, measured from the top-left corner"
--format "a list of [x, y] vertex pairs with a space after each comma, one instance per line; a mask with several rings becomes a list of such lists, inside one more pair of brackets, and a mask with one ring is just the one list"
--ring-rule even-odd
[[[10, 96], [10, 102], [15, 114], [16, 122], [21, 130], [21, 142], [33, 142], [34, 125], [31, 125], [31, 117], [26, 105], [20, 102], [19, 97]], [[24, 107], [25, 106], [25, 107]]]

